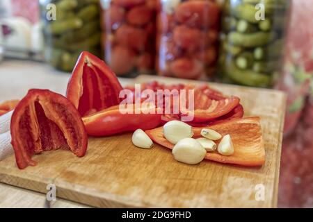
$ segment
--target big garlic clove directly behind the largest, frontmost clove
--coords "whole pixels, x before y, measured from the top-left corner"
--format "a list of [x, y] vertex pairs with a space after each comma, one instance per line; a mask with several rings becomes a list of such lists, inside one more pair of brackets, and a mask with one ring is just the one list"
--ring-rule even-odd
[[193, 137], [193, 128], [182, 121], [169, 121], [163, 126], [163, 134], [172, 144], [177, 144], [179, 140]]

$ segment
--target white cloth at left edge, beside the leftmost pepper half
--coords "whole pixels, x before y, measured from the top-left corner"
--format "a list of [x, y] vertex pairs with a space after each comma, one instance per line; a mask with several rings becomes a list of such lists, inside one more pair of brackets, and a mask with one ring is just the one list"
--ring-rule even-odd
[[10, 121], [13, 111], [0, 117], [0, 161], [13, 153], [11, 145]]

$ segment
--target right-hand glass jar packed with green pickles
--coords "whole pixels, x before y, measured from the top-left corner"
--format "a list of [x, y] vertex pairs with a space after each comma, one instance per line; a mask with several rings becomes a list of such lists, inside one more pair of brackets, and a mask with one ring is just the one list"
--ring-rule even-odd
[[220, 79], [225, 83], [271, 87], [282, 67], [289, 0], [225, 0]]

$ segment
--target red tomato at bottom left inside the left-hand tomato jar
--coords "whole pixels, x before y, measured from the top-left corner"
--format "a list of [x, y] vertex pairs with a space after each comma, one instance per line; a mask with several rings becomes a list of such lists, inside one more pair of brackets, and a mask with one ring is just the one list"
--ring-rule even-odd
[[136, 54], [131, 49], [124, 46], [115, 46], [111, 51], [109, 65], [117, 75], [128, 74], [134, 68]]

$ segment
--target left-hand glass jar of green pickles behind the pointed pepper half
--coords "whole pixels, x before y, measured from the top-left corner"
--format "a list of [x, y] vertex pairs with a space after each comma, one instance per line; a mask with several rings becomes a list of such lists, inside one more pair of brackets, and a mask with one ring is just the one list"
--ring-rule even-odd
[[81, 51], [102, 56], [99, 0], [40, 0], [45, 59], [72, 71]]

